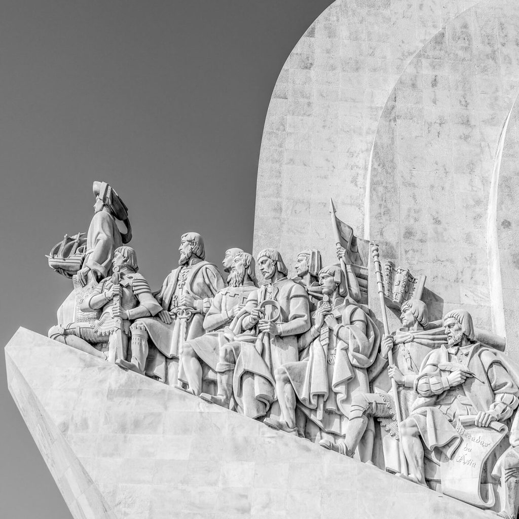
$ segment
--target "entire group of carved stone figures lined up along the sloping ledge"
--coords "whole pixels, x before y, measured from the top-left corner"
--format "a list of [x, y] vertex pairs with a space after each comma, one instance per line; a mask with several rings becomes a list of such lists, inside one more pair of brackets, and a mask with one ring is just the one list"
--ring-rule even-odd
[[[123, 245], [131, 238], [124, 202], [106, 183], [94, 183], [94, 194], [86, 240], [65, 235], [49, 255], [74, 285], [49, 337], [515, 517], [519, 365], [503, 353], [504, 339], [476, 329], [463, 309], [430, 322], [425, 276], [383, 267], [376, 247], [372, 261], [370, 242], [337, 218], [333, 202], [336, 258], [324, 267], [310, 247], [291, 258], [289, 278], [277, 250], [254, 258], [229, 248], [224, 278], [202, 236], [189, 232], [154, 292]], [[398, 330], [388, 329], [387, 307], [400, 315]]]

